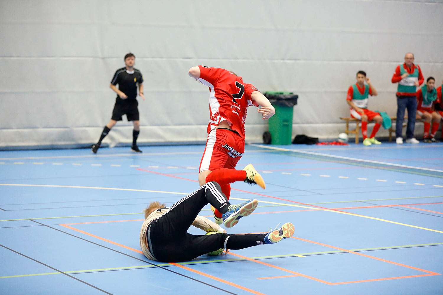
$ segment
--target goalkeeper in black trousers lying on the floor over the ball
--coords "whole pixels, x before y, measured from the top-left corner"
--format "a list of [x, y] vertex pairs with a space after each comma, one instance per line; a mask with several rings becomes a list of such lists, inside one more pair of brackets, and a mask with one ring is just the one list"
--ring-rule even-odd
[[[143, 254], [151, 260], [162, 262], [189, 261], [218, 249], [244, 249], [256, 245], [274, 244], [294, 234], [290, 222], [267, 234], [227, 234], [215, 222], [198, 216], [206, 204], [210, 203], [223, 213], [226, 227], [232, 227], [238, 220], [251, 214], [257, 207], [257, 199], [230, 205], [221, 192], [220, 185], [210, 181], [197, 191], [187, 195], [171, 208], [165, 204], [152, 202], [144, 210], [145, 221], [140, 230], [140, 246]], [[187, 233], [193, 225], [206, 232], [216, 234], [194, 235]]]

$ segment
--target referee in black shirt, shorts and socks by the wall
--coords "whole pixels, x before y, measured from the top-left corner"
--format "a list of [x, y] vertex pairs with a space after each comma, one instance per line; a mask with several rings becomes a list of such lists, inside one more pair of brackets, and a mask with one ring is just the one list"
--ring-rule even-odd
[[[135, 55], [128, 53], [124, 56], [124, 68], [118, 69], [111, 81], [109, 87], [117, 93], [117, 100], [115, 102], [114, 110], [112, 112], [112, 118], [108, 124], [106, 124], [103, 132], [101, 133], [98, 142], [92, 146], [92, 152], [97, 153], [100, 147], [101, 141], [109, 133], [109, 130], [117, 123], [121, 121], [121, 116], [126, 114], [128, 121], [133, 121], [134, 131], [132, 132], [132, 146], [131, 150], [136, 153], [141, 153], [141, 150], [137, 146], [137, 138], [140, 133], [140, 121], [138, 112], [137, 101], [137, 85], [139, 88], [139, 95], [144, 100], [143, 95], [143, 76], [141, 72], [134, 68]], [[116, 85], [118, 84], [118, 89]]]

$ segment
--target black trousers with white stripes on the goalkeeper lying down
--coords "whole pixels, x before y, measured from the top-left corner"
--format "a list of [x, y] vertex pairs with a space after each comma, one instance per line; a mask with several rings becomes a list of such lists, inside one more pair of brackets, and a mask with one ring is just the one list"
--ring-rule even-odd
[[208, 203], [220, 212], [226, 212], [229, 207], [229, 201], [215, 181], [208, 182], [179, 200], [148, 225], [146, 238], [156, 260], [189, 261], [221, 248], [235, 250], [264, 244], [265, 234], [188, 234], [192, 222]]

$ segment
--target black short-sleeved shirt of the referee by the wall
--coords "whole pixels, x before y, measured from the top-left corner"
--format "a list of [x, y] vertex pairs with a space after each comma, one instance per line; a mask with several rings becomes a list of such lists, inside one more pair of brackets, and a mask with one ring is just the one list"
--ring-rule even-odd
[[[127, 72], [126, 68], [118, 69], [111, 81], [113, 85], [118, 84], [118, 89], [128, 96], [125, 100], [136, 100], [138, 83], [143, 83], [143, 76], [136, 68], [134, 68], [131, 74]], [[125, 100], [122, 100], [120, 96], [117, 95], [117, 102], [123, 102]]]

